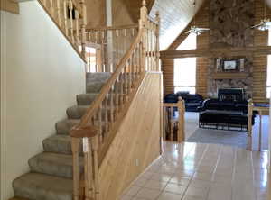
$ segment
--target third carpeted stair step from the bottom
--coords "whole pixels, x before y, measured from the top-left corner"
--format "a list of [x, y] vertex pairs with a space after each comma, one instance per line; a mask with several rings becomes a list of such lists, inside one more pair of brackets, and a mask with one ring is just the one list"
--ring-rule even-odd
[[[69, 135], [55, 134], [43, 141], [46, 152], [64, 153], [71, 155], [71, 138]], [[82, 147], [79, 150], [82, 153]]]

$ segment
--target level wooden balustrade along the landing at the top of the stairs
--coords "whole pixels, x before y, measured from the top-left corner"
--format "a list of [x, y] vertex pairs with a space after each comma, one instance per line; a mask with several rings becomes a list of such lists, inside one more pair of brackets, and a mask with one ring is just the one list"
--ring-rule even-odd
[[[87, 49], [100, 50], [99, 59], [96, 61], [97, 72], [113, 72], [126, 51], [129, 50], [131, 42], [135, 41], [138, 33], [138, 24], [125, 26], [109, 26], [87, 29]], [[96, 53], [98, 56], [98, 53]], [[87, 54], [90, 60], [90, 54]], [[88, 62], [87, 72], [90, 71], [91, 62]]]

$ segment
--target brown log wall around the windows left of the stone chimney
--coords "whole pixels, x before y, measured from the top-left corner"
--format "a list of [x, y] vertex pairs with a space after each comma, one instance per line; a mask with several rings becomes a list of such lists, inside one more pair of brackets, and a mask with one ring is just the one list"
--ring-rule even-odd
[[[209, 0], [206, 0], [196, 14], [196, 25], [209, 28]], [[176, 50], [179, 45], [187, 37], [185, 32], [189, 31], [193, 25], [189, 23], [187, 27], [180, 33], [175, 41], [167, 50]], [[197, 37], [197, 48], [209, 48], [209, 32], [203, 33]], [[197, 59], [197, 72], [196, 72], [196, 93], [206, 96], [207, 95], [207, 68], [209, 59]], [[174, 59], [162, 59], [162, 70], [164, 73], [164, 95], [174, 92]]]

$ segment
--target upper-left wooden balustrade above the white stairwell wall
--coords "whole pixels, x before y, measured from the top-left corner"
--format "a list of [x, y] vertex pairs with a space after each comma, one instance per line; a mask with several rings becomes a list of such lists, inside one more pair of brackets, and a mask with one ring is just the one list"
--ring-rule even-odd
[[81, 59], [85, 59], [87, 8], [85, 0], [38, 0]]

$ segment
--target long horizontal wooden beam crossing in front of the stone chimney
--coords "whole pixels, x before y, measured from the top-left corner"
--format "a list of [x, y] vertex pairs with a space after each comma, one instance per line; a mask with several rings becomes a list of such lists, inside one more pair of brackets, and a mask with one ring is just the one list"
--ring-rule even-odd
[[221, 48], [221, 49], [198, 49], [198, 50], [164, 50], [160, 51], [161, 59], [179, 59], [192, 57], [231, 57], [249, 56], [254, 54], [271, 54], [271, 46], [255, 46], [245, 48]]

